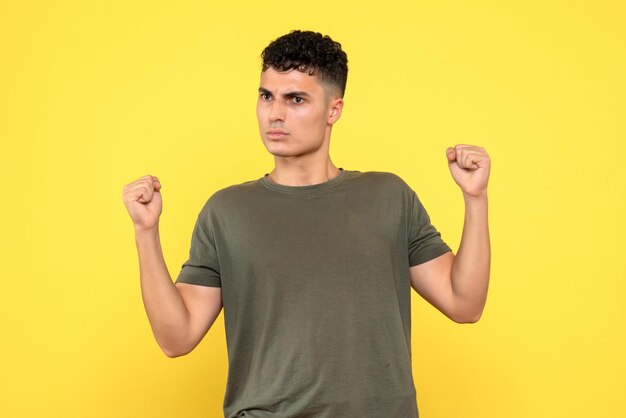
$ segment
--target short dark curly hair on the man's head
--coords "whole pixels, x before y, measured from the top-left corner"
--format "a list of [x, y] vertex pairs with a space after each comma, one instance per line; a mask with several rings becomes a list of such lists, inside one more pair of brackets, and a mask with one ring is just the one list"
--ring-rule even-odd
[[348, 79], [348, 56], [341, 44], [318, 32], [292, 30], [273, 40], [261, 53], [263, 71], [296, 69], [317, 75], [323, 83], [336, 87], [343, 97]]

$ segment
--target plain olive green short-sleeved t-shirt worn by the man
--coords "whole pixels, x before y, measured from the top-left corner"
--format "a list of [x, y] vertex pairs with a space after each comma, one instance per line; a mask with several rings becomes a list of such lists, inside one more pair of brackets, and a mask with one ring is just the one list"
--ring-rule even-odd
[[409, 267], [448, 251], [392, 173], [214, 193], [176, 282], [222, 288], [224, 416], [417, 417]]

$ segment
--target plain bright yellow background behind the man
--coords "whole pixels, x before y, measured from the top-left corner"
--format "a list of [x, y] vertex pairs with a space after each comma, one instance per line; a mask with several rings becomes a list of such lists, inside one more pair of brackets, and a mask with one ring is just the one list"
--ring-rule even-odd
[[259, 54], [294, 28], [348, 53], [335, 164], [403, 177], [455, 250], [445, 149], [492, 158], [482, 319], [413, 294], [422, 416], [626, 416], [625, 22], [617, 0], [0, 2], [0, 416], [221, 416], [223, 317], [160, 351], [121, 191], [161, 179], [174, 279], [206, 199], [273, 167]]

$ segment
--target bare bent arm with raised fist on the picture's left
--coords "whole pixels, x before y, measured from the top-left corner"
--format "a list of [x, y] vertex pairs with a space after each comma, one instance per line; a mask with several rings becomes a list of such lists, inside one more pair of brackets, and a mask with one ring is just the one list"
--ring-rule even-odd
[[[174, 284], [159, 237], [160, 183], [146, 176], [124, 188], [124, 202], [135, 223], [141, 295], [154, 337], [168, 357], [189, 353], [222, 309], [218, 287]], [[141, 206], [139, 206], [141, 205]]]

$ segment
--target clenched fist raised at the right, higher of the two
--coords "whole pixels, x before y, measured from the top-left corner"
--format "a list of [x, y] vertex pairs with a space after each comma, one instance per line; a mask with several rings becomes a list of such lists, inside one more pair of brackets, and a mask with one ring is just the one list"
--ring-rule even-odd
[[486, 197], [491, 159], [484, 148], [459, 144], [446, 150], [452, 178], [468, 197]]

